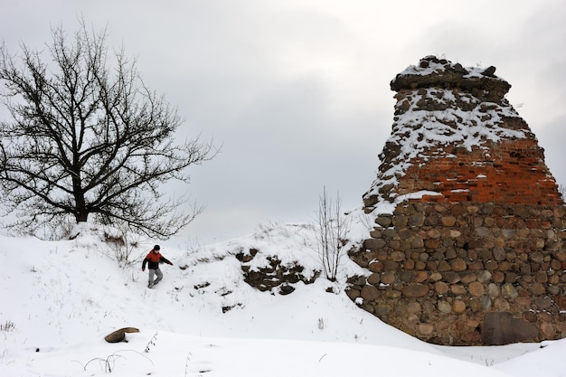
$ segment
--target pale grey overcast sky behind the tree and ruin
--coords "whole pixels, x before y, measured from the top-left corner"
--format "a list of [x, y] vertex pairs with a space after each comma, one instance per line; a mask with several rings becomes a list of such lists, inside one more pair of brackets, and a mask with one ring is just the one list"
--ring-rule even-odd
[[[323, 186], [362, 204], [391, 132], [389, 83], [434, 54], [494, 65], [566, 184], [562, 0], [2, 0], [0, 38], [42, 47], [79, 18], [137, 57], [146, 84], [222, 153], [184, 190], [206, 210], [178, 238], [211, 243], [313, 221]], [[177, 193], [178, 194], [178, 193]]]

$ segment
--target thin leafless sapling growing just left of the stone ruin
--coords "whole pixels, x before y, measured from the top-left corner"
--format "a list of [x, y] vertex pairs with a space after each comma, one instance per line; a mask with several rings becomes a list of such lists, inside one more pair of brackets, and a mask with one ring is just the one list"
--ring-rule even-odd
[[325, 277], [335, 281], [340, 259], [344, 251], [345, 237], [348, 232], [348, 221], [341, 212], [340, 194], [335, 200], [328, 197], [326, 187], [318, 198], [318, 254], [322, 261]]

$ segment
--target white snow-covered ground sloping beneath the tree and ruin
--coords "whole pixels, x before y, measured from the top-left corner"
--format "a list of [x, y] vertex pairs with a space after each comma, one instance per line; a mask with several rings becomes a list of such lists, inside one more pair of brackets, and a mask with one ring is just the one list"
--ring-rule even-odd
[[[306, 274], [320, 269], [309, 224], [260, 227], [203, 247], [162, 242], [174, 266], [162, 266], [154, 289], [140, 269], [154, 242], [128, 249], [135, 263], [120, 267], [117, 250], [126, 249], [97, 234], [0, 237], [0, 376], [566, 375], [566, 340], [443, 347], [383, 324], [344, 294], [344, 276], [363, 273], [346, 258], [338, 282], [297, 283], [287, 296], [244, 282], [234, 255], [250, 248], [259, 250], [252, 268], [277, 255]], [[139, 329], [127, 343], [104, 340], [126, 326]]]

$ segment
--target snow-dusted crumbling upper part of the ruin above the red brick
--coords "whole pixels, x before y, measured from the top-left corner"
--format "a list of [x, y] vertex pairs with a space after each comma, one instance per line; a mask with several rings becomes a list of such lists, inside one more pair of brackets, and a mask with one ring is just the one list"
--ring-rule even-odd
[[[434, 56], [411, 65], [391, 80], [397, 91], [391, 136], [380, 154], [377, 179], [363, 195], [366, 207], [393, 203], [394, 188], [413, 160], [454, 158], [448, 148], [488, 148], [487, 142], [531, 135], [526, 123], [507, 122], [519, 114], [505, 99], [511, 85], [495, 67], [464, 68]], [[518, 126], [517, 126], [518, 125]], [[369, 204], [369, 205], [368, 205]]]

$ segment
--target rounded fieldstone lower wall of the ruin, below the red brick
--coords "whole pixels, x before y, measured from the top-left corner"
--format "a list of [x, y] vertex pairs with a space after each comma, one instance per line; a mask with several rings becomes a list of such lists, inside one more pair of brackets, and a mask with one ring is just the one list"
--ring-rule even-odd
[[562, 205], [405, 202], [376, 218], [350, 257], [356, 303], [434, 344], [566, 336]]

